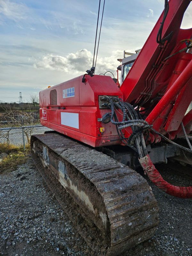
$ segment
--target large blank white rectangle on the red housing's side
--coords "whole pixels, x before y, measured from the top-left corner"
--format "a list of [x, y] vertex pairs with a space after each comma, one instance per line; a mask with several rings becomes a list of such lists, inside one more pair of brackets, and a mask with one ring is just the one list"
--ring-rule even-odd
[[61, 112], [61, 124], [79, 129], [79, 114]]

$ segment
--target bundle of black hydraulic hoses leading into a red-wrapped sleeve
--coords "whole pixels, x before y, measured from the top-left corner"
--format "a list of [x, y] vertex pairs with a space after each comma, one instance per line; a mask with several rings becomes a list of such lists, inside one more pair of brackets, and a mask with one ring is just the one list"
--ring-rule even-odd
[[[146, 120], [139, 119], [138, 113], [133, 108], [133, 106], [127, 102], [123, 102], [123, 100], [119, 99], [119, 103], [113, 102], [112, 99], [108, 99], [108, 103], [105, 103], [106, 106], [109, 106], [111, 108], [111, 123], [116, 125], [117, 133], [119, 134], [119, 131], [122, 134], [122, 138], [119, 134], [119, 137], [121, 140], [124, 141], [126, 145], [133, 148], [135, 147], [137, 149], [138, 155], [139, 155], [139, 162], [141, 166], [143, 167], [143, 170], [145, 174], [148, 175], [149, 179], [161, 190], [166, 192], [169, 195], [180, 197], [180, 198], [192, 198], [192, 187], [180, 187], [180, 186], [174, 186], [167, 181], [163, 179], [161, 174], [156, 170], [154, 164], [152, 163], [146, 143], [143, 137], [143, 132], [145, 130], [151, 129], [153, 132], [157, 133], [159, 136], [161, 136], [164, 140], [168, 141], [169, 143], [172, 143], [173, 145], [177, 146], [178, 148], [181, 148], [182, 150], [186, 150], [190, 153], [192, 153], [191, 144], [190, 148], [182, 147], [181, 145], [178, 145], [177, 143], [173, 142], [172, 140], [169, 140], [167, 137], [165, 137], [163, 134], [157, 132], [154, 130], [151, 125], [148, 124]], [[115, 106], [122, 111], [123, 119], [122, 121], [118, 121], [115, 113]], [[115, 119], [115, 121], [113, 120]], [[181, 124], [182, 125], [182, 124]], [[129, 137], [129, 139], [125, 139], [124, 135], [122, 133], [122, 129], [126, 127], [132, 128], [132, 134]], [[183, 126], [184, 127], [184, 126]], [[186, 136], [186, 132], [184, 129], [184, 133]]]

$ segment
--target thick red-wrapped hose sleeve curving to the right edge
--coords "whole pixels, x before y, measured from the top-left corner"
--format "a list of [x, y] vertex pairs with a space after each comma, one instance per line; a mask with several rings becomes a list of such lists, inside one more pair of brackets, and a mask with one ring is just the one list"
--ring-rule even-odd
[[149, 179], [161, 190], [167, 194], [179, 198], [192, 198], [192, 187], [179, 187], [174, 186], [163, 179], [161, 174], [157, 171], [152, 163], [149, 155], [139, 159], [143, 170], [149, 177]]

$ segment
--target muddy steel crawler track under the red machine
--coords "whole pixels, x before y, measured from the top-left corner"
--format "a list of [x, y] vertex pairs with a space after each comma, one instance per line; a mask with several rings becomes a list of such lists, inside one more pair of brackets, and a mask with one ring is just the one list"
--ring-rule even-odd
[[63, 210], [98, 255], [121, 255], [153, 236], [157, 203], [137, 172], [56, 133], [33, 135], [31, 154]]

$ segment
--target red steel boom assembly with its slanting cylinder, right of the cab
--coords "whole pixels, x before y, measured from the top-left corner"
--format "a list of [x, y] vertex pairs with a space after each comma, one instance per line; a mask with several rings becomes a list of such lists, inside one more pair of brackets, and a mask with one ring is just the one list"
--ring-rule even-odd
[[[164, 45], [156, 43], [157, 32], [163, 19], [162, 13], [120, 87], [124, 101], [134, 107], [142, 106], [147, 109], [144, 111], [146, 121], [163, 134], [178, 130], [187, 104], [189, 105], [192, 100], [190, 93], [183, 105], [178, 102], [179, 99], [175, 102], [181, 90], [183, 93], [185, 90], [184, 97], [187, 93], [187, 89], [184, 88], [188, 86], [189, 90], [192, 86], [192, 54], [183, 52], [164, 61], [166, 57], [186, 47], [185, 42], [180, 43], [181, 40], [192, 38], [192, 28], [180, 28], [189, 3], [189, 0], [169, 1], [169, 12], [164, 22], [162, 38], [172, 32], [170, 40]], [[177, 113], [180, 114], [179, 117]], [[125, 131], [127, 137], [126, 133]], [[176, 132], [172, 134], [176, 135]], [[168, 137], [171, 138], [171, 135], [168, 134]], [[151, 134], [149, 140], [156, 143], [161, 138]]]

